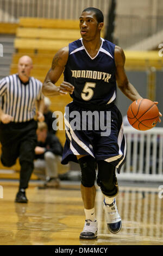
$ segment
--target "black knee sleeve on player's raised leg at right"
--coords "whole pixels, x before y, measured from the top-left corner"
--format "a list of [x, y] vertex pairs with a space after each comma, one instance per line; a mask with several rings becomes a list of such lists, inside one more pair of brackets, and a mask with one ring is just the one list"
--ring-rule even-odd
[[105, 196], [114, 197], [118, 193], [115, 167], [111, 163], [98, 161], [97, 185]]

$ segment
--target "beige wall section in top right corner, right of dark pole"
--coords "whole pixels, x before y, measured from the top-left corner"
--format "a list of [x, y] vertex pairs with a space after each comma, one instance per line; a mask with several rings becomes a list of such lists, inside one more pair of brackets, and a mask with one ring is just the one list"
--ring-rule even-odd
[[114, 38], [122, 48], [141, 42], [163, 29], [163, 1], [116, 0]]

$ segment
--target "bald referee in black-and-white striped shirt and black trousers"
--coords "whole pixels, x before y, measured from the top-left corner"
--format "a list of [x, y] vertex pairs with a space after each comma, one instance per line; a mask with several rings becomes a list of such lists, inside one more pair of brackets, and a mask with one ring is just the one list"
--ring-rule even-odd
[[[37, 122], [43, 121], [44, 100], [42, 83], [30, 77], [32, 59], [22, 56], [18, 60], [18, 73], [0, 81], [0, 142], [1, 161], [11, 167], [19, 157], [20, 185], [15, 202], [27, 203], [26, 188], [34, 168]], [[37, 113], [36, 113], [37, 103]]]

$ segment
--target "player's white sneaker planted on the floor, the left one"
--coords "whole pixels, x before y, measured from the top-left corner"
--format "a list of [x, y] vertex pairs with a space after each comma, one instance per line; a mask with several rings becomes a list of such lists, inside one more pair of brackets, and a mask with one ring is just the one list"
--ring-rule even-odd
[[80, 233], [80, 239], [96, 239], [97, 230], [97, 221], [85, 220], [83, 231]]

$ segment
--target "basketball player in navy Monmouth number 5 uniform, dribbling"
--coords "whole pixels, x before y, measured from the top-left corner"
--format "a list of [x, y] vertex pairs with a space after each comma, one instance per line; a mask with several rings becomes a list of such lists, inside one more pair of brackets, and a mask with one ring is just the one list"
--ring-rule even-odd
[[[122, 48], [101, 38], [104, 17], [101, 10], [86, 8], [80, 16], [80, 33], [82, 38], [71, 42], [55, 54], [52, 68], [43, 83], [42, 92], [49, 95], [65, 95], [70, 93], [73, 101], [66, 106], [65, 125], [66, 143], [62, 164], [68, 161], [78, 162], [82, 171], [81, 192], [85, 211], [85, 224], [80, 239], [97, 237], [97, 221], [95, 216], [95, 179], [96, 163], [98, 166], [97, 184], [104, 194], [103, 208], [108, 229], [112, 233], [121, 230], [121, 217], [118, 214], [115, 196], [118, 193], [116, 170], [120, 173], [126, 157], [126, 139], [123, 133], [122, 115], [115, 106], [116, 81], [122, 92], [131, 101], [142, 97], [129, 83], [124, 71], [125, 56]], [[56, 87], [62, 72], [64, 82]], [[76, 112], [74, 112], [76, 111]], [[94, 113], [97, 117], [104, 115], [101, 127], [95, 129], [99, 120], [92, 121], [82, 114]], [[69, 113], [69, 114], [68, 114]], [[77, 119], [86, 129], [74, 129], [72, 118], [79, 113]], [[103, 133], [107, 114], [110, 119], [110, 131]], [[98, 118], [97, 118], [98, 119]], [[83, 123], [82, 123], [83, 121]], [[92, 130], [89, 129], [93, 125]]]

